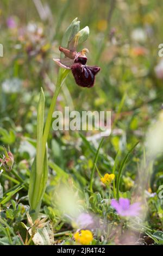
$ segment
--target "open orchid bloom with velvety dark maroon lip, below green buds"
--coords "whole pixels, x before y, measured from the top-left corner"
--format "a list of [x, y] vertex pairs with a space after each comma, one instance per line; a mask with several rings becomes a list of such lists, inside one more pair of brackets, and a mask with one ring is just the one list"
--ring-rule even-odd
[[64, 52], [64, 59], [54, 59], [58, 65], [65, 69], [71, 69], [74, 80], [81, 87], [91, 88], [95, 84], [95, 76], [101, 70], [99, 66], [87, 66], [87, 57], [85, 53], [87, 49], [81, 52], [73, 52], [63, 47], [59, 47], [61, 52]]

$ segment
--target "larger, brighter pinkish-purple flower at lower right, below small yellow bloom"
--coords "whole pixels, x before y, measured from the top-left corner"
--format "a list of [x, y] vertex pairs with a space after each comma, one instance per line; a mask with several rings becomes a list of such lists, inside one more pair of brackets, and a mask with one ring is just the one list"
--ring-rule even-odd
[[111, 206], [121, 216], [137, 216], [141, 210], [140, 203], [130, 204], [130, 200], [127, 198], [120, 198], [119, 202], [112, 199]]

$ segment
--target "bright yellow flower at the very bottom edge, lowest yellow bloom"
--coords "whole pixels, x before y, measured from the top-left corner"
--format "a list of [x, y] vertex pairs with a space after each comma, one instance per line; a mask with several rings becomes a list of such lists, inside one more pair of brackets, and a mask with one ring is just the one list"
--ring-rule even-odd
[[80, 233], [77, 232], [74, 234], [74, 239], [82, 245], [90, 245], [93, 240], [93, 235], [90, 230], [81, 230]]

